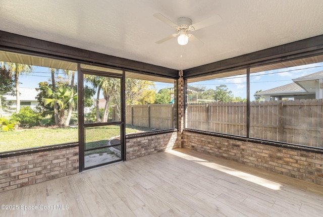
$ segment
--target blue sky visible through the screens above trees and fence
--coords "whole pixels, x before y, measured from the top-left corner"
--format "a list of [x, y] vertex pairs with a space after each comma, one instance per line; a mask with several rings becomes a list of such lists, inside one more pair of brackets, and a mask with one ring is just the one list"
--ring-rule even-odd
[[[292, 83], [292, 79], [298, 78], [304, 75], [308, 75], [314, 72], [322, 71], [323, 63], [308, 64], [297, 67], [290, 67], [279, 70], [264, 71], [259, 73], [253, 73], [250, 77], [250, 99], [253, 100], [253, 94], [257, 90], [267, 90], [274, 87], [282, 86], [288, 83]], [[64, 76], [64, 74], [59, 74]], [[41, 81], [48, 81], [50, 79], [50, 72], [45, 67], [34, 67], [34, 72], [29, 75], [20, 75], [19, 80], [21, 82], [20, 87], [35, 88], [38, 87], [38, 83]], [[77, 82], [77, 77], [75, 78]], [[216, 89], [216, 86], [221, 84], [227, 85], [234, 96], [240, 96], [246, 98], [246, 76], [239, 75], [221, 79], [213, 79], [207, 81], [200, 81], [189, 83], [194, 87], [205, 87], [206, 89]], [[155, 82], [157, 91], [161, 88], [168, 88], [171, 84]]]

